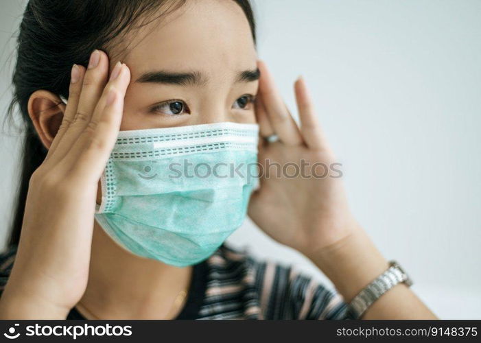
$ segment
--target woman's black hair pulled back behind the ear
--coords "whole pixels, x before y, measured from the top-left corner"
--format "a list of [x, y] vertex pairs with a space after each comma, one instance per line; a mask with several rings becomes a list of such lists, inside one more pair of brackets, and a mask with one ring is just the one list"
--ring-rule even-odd
[[[38, 139], [28, 115], [30, 95], [39, 89], [69, 97], [72, 64], [86, 66], [93, 49], [108, 51], [121, 44], [121, 36], [161, 16], [174, 12], [188, 0], [30, 0], [17, 36], [17, 57], [12, 83], [14, 95], [8, 115], [18, 107], [25, 134], [21, 180], [8, 245], [20, 240], [25, 201], [33, 172], [47, 150]], [[233, 0], [248, 19], [256, 42], [253, 9], [249, 0]], [[152, 20], [151, 20], [152, 19]], [[138, 26], [136, 26], [138, 25]], [[112, 58], [112, 56], [109, 56]]]

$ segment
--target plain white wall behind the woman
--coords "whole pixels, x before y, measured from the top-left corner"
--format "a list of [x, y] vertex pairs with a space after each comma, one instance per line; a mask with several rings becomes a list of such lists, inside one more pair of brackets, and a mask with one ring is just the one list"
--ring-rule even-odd
[[[1, 1], [3, 45], [21, 6]], [[255, 8], [259, 55], [293, 112], [292, 82], [305, 75], [358, 220], [438, 316], [481, 318], [481, 1], [257, 0]], [[3, 93], [10, 76], [1, 75]], [[8, 218], [16, 154], [5, 134], [0, 143]], [[248, 221], [229, 241], [332, 286]]]

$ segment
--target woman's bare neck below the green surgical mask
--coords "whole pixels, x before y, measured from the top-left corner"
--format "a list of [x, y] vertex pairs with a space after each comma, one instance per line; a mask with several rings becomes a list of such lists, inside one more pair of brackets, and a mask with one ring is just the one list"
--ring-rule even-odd
[[89, 282], [78, 310], [99, 319], [176, 318], [184, 303], [179, 296], [188, 291], [191, 272], [191, 267], [131, 254], [95, 222]]

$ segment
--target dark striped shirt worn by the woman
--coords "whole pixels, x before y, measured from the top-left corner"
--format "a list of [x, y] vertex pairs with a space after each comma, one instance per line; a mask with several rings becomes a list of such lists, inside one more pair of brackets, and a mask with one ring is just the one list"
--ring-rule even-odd
[[[16, 246], [0, 254], [0, 296], [12, 270]], [[85, 319], [73, 307], [67, 319]], [[222, 245], [193, 266], [186, 303], [176, 319], [356, 319], [336, 291], [291, 265], [259, 261]]]

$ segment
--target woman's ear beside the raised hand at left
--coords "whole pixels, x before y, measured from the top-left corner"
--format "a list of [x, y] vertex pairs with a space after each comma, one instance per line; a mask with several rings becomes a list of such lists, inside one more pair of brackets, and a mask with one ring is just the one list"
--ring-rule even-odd
[[60, 128], [66, 106], [58, 95], [49, 91], [39, 90], [30, 95], [28, 114], [40, 141], [47, 149]]

